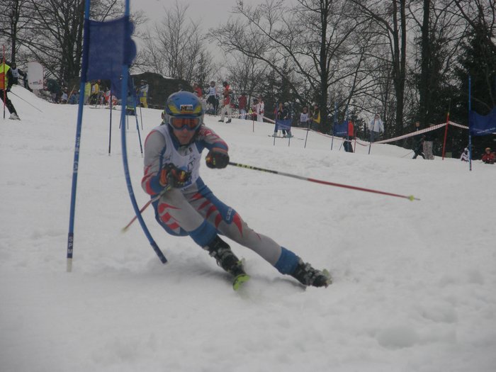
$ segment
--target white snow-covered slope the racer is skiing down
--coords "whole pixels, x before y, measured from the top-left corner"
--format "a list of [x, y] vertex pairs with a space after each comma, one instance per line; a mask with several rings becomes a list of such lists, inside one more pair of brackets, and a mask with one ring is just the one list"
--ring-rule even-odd
[[[412, 160], [400, 147], [330, 150], [329, 138], [273, 125], [205, 123], [233, 162], [374, 188], [351, 191], [237, 167], [202, 169], [249, 225], [334, 277], [303, 289], [244, 247], [241, 291], [187, 237], [135, 223], [123, 176], [118, 114], [84, 110], [74, 264], [65, 271], [77, 106], [11, 95], [21, 121], [0, 120], [0, 370], [494, 371], [496, 166]], [[128, 152], [139, 205], [136, 123]], [[160, 122], [142, 109], [141, 140]], [[140, 123], [141, 125], [141, 123]]]

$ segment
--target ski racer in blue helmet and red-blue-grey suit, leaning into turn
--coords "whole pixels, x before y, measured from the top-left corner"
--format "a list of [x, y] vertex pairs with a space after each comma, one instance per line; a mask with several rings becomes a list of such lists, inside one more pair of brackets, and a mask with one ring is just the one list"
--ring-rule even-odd
[[246, 276], [242, 263], [219, 235], [252, 249], [281, 274], [289, 274], [305, 286], [327, 286], [330, 278], [322, 271], [249, 228], [234, 209], [215, 197], [199, 174], [205, 148], [207, 167], [227, 167], [227, 144], [203, 125], [198, 97], [187, 91], [171, 94], [162, 125], [154, 128], [145, 140], [142, 178], [143, 190], [152, 198], [159, 196], [152, 205], [164, 230], [171, 235], [189, 235], [235, 277]]

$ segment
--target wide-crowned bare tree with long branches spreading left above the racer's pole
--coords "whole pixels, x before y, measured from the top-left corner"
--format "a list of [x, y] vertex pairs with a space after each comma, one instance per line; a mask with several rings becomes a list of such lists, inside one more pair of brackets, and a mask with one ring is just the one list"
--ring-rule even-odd
[[[260, 60], [281, 78], [285, 65], [291, 69], [295, 75], [289, 81], [291, 90], [302, 102], [308, 99], [305, 93], [312, 91], [327, 131], [329, 89], [361, 81], [354, 79], [359, 71], [354, 55], [360, 48], [354, 35], [363, 26], [351, 16], [347, 4], [345, 0], [298, 0], [288, 9], [281, 0], [266, 0], [259, 6], [238, 0], [233, 13], [244, 21], [229, 21], [209, 36], [225, 52], [238, 51]], [[302, 80], [303, 92], [295, 84]]]

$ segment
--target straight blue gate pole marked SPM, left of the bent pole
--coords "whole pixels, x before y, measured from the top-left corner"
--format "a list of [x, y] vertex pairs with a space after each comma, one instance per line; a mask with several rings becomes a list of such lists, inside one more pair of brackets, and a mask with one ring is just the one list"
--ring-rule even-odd
[[[79, 147], [81, 145], [81, 126], [83, 121], [84, 106], [84, 84], [86, 83], [86, 67], [88, 64], [88, 43], [89, 35], [86, 26], [89, 22], [89, 5], [91, 0], [86, 0], [84, 4], [84, 40], [83, 56], [81, 63], [81, 82], [79, 84], [79, 106], [77, 109], [76, 143], [74, 145], [74, 162], [72, 164], [72, 188], [71, 188], [71, 208], [69, 212], [69, 232], [67, 234], [67, 272], [72, 271], [72, 253], [74, 252], [74, 215], [76, 213], [76, 191], [77, 191], [77, 171], [79, 168]], [[88, 26], [89, 27], [89, 26]]]

